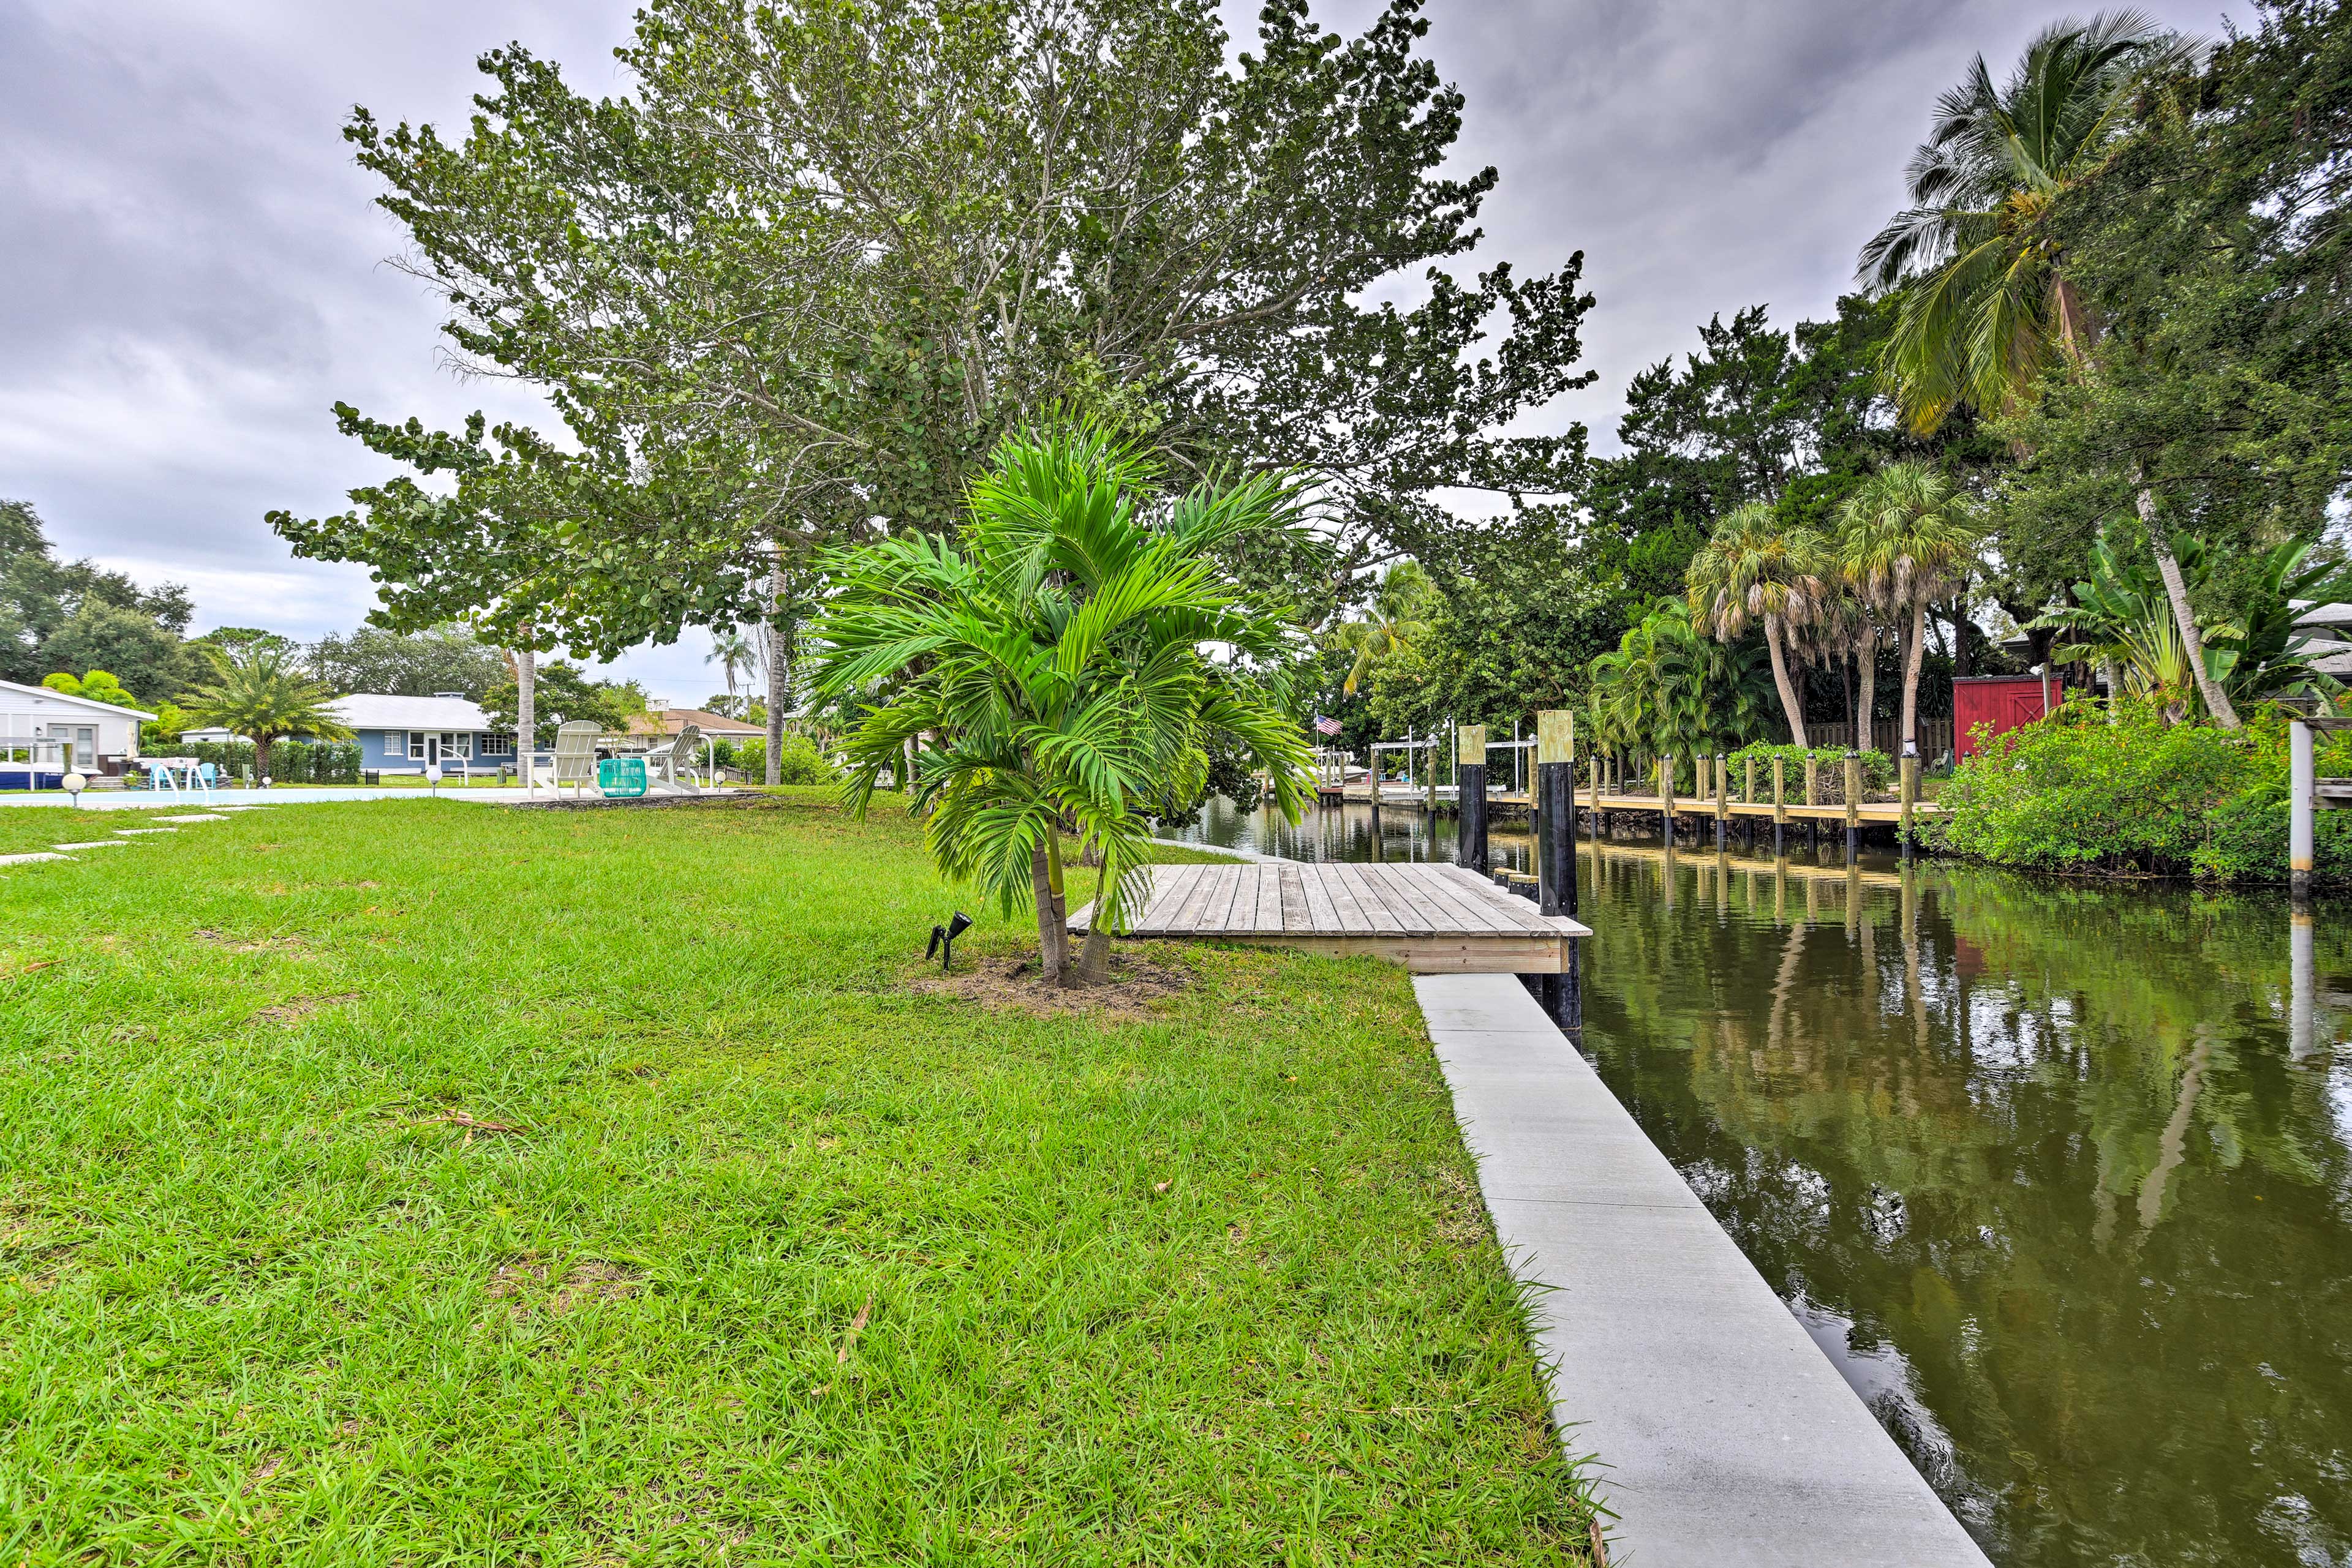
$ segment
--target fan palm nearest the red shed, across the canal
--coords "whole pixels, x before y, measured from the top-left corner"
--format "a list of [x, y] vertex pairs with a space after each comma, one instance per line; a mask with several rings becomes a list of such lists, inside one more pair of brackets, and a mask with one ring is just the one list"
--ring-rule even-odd
[[1952, 597], [1976, 567], [1976, 505], [1926, 463], [1889, 463], [1846, 496], [1837, 515], [1837, 567], [1856, 599], [1905, 616], [1903, 750], [1919, 743], [1919, 661], [1926, 607]]

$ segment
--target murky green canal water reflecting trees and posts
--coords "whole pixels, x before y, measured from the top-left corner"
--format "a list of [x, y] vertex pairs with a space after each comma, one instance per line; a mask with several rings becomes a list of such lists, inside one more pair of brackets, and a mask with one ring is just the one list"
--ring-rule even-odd
[[[1183, 837], [1374, 858], [1367, 806]], [[2298, 961], [2277, 896], [1769, 837], [1578, 877], [1585, 1051], [1994, 1563], [2352, 1563], [2352, 907]]]

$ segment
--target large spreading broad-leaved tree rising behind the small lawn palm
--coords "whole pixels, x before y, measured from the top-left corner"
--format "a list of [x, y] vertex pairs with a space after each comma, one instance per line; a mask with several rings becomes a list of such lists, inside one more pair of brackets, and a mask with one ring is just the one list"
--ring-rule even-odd
[[273, 524], [374, 564], [395, 621], [597, 656], [767, 623], [781, 686], [816, 557], [946, 531], [1051, 409], [1171, 473], [1298, 473], [1334, 583], [1446, 527], [1444, 489], [1564, 494], [1583, 433], [1503, 430], [1585, 383], [1583, 259], [1437, 266], [1496, 174], [1444, 172], [1463, 99], [1425, 31], [1418, 0], [1357, 38], [1275, 0], [1235, 54], [1209, 0], [654, 0], [607, 99], [494, 49], [463, 134], [343, 134], [456, 360], [564, 430], [341, 404], [402, 477]]

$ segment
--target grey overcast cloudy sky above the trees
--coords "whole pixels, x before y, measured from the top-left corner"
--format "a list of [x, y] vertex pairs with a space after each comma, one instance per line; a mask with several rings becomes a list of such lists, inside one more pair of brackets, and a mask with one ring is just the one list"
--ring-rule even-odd
[[[1228, 5], [1244, 16], [1254, 7]], [[2154, 0], [2213, 33], [2244, 0]], [[461, 120], [485, 47], [522, 40], [574, 87], [626, 87], [633, 0], [0, 0], [0, 496], [66, 555], [195, 590], [198, 623], [315, 637], [374, 602], [365, 569], [296, 562], [261, 515], [339, 510], [383, 477], [329, 404], [454, 423], [527, 411], [461, 383], [437, 310], [390, 268], [339, 127]], [[1319, 0], [1359, 28], [1369, 0]], [[1933, 96], [2006, 66], [2034, 0], [1430, 0], [1468, 94], [1461, 160], [1496, 165], [1477, 261], [1585, 252], [1599, 381], [1543, 414], [1611, 447], [1628, 376], [1710, 313], [1825, 313], [1900, 202]], [[621, 670], [720, 686], [691, 635]]]

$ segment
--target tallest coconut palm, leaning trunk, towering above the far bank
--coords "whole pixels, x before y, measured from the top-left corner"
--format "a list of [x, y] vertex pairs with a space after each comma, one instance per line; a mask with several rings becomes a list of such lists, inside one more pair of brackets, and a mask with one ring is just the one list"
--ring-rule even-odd
[[[2201, 59], [2201, 42], [2140, 12], [2070, 16], [2025, 47], [2009, 82], [1994, 87], [1980, 54], [1969, 80], [1936, 101], [1910, 165], [1912, 205], [1872, 235], [1858, 266], [1872, 289], [1900, 292], [1879, 369], [1915, 430], [1933, 430], [1962, 402], [2002, 411], [2044, 369], [2089, 357], [2098, 320], [2044, 219], [2110, 153], [2138, 87]], [[2237, 710], [2206, 675], [2187, 583], [2145, 484], [2138, 510], [2197, 689], [2237, 729]]]

